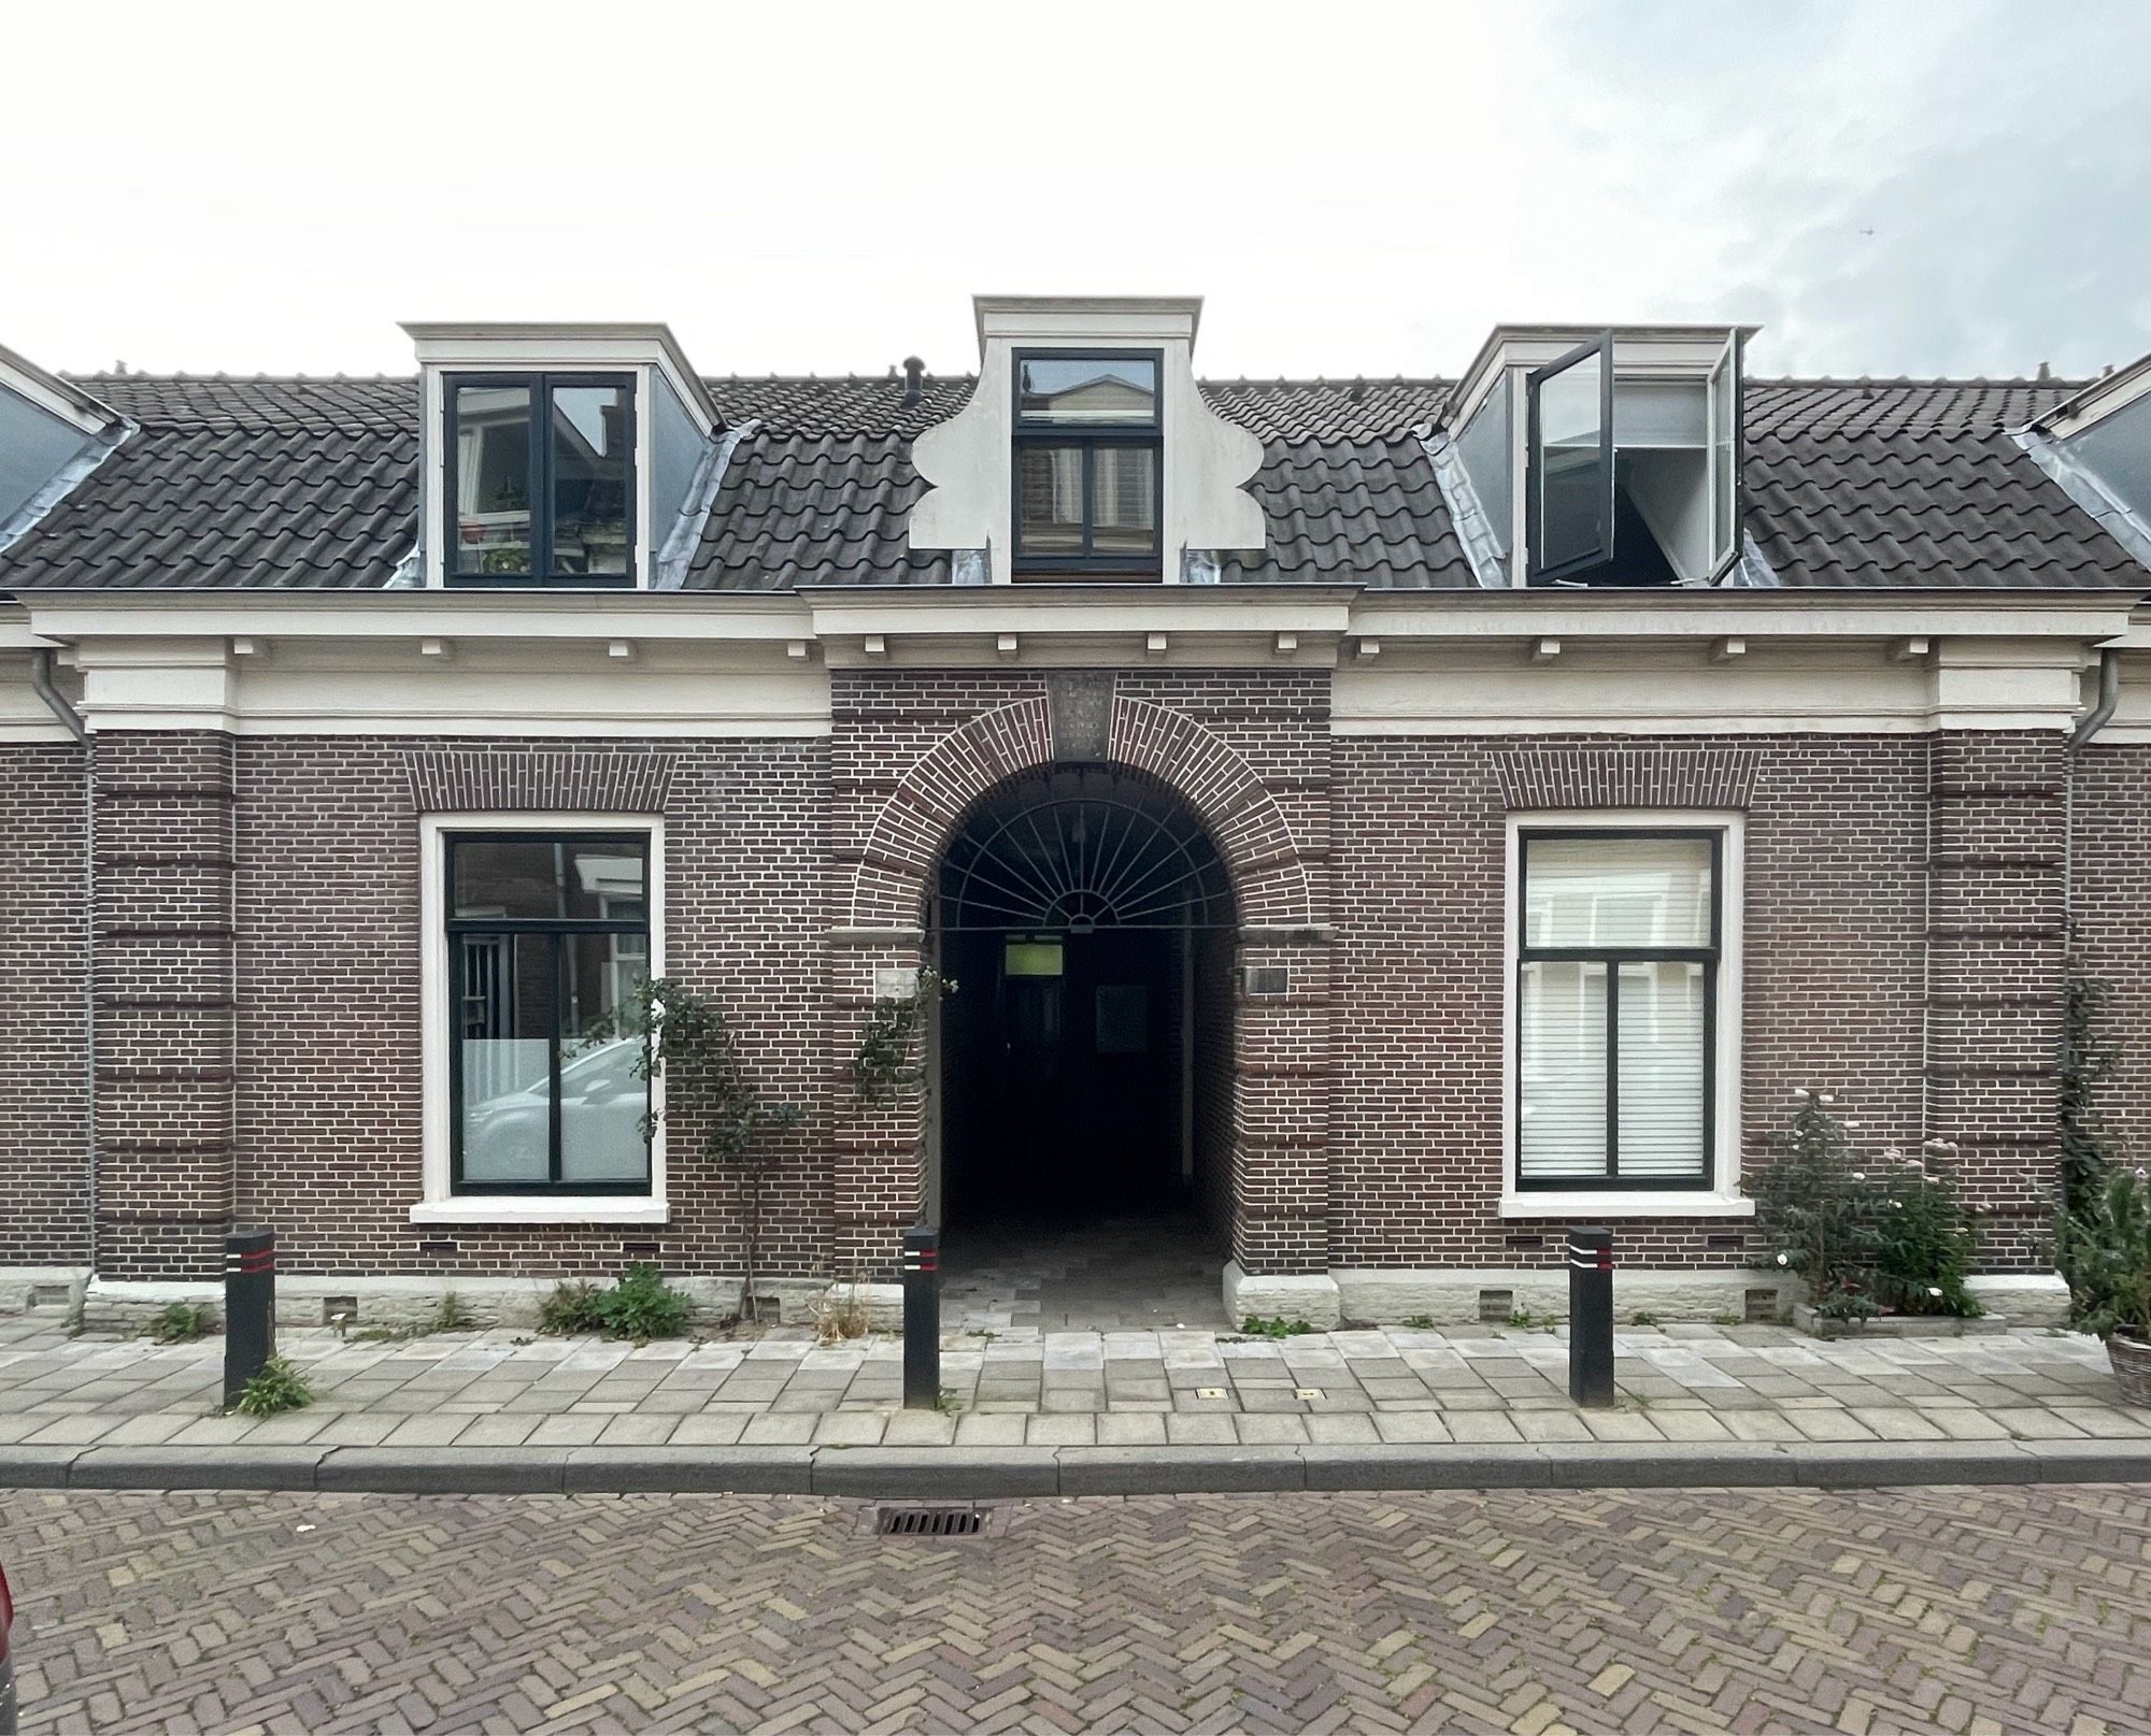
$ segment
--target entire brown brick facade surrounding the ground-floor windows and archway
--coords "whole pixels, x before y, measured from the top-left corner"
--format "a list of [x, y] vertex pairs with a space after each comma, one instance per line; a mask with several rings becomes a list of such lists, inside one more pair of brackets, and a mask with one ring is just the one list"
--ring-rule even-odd
[[[845, 1083], [878, 971], [931, 950], [938, 859], [970, 808], [1069, 754], [1032, 670], [832, 670], [826, 739], [99, 739], [99, 1212], [108, 1276], [209, 1276], [232, 1218], [288, 1270], [738, 1268], [738, 1188], [669, 1128], [663, 1227], [417, 1227], [419, 814], [663, 814], [667, 969], [736, 1016], [759, 1087], [798, 1102], [766, 1195], [777, 1274], [886, 1272], [921, 1210], [918, 1094]], [[1744, 814], [1742, 1145], [1833, 1089], [1863, 1147], [1957, 1143], [1992, 1207], [1985, 1263], [2033, 1257], [2052, 1169], [2063, 956], [2059, 735], [1725, 739], [1334, 735], [1327, 670], [1086, 675], [1106, 756], [1211, 831], [1237, 935], [1194, 969], [1198, 1203], [1250, 1272], [1538, 1263], [1504, 1220], [1506, 819], [1559, 808]], [[1056, 730], [1060, 733], [1056, 737]], [[32, 960], [30, 1057], [0, 1154], [0, 1259], [80, 1261], [82, 754], [9, 748], [28, 840], [6, 920]], [[2136, 937], [2151, 750], [2080, 763], [2080, 947], [2147, 1010]], [[1245, 993], [1243, 967], [1284, 967]], [[2151, 1068], [2117, 1128], [2151, 1132]], [[1637, 1263], [1734, 1265], [1738, 1220], [1622, 1225]]]

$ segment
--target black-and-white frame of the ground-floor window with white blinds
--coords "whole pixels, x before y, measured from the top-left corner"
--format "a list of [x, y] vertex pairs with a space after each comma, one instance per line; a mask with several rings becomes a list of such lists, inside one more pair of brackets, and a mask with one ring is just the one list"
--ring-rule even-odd
[[[1516, 831], [1516, 928], [1510, 1003], [1510, 1053], [1514, 1055], [1514, 1091], [1508, 1119], [1514, 1147], [1512, 1182], [1523, 1192], [1695, 1192], [1714, 1188], [1719, 1180], [1719, 978], [1725, 965], [1725, 827], [1719, 825], [1534, 825]], [[1706, 947], [1605, 947], [1605, 945], [1529, 945], [1525, 939], [1532, 892], [1532, 844], [1540, 840], [1613, 842], [1622, 838], [1701, 838], [1710, 844], [1710, 945]], [[1607, 967], [1607, 1171], [1605, 1175], [1540, 1175], [1523, 1173], [1523, 967], [1538, 963], [1602, 963]], [[1620, 967], [1622, 965], [1701, 965], [1704, 967], [1704, 1154], [1693, 1175], [1622, 1175], [1620, 1173]]]

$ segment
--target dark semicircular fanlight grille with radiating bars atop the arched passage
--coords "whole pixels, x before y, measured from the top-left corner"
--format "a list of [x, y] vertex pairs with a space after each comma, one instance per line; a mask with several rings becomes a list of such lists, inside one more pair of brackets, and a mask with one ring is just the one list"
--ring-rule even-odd
[[1106, 767], [996, 791], [942, 859], [944, 928], [1211, 928], [1233, 892], [1202, 823], [1164, 786]]

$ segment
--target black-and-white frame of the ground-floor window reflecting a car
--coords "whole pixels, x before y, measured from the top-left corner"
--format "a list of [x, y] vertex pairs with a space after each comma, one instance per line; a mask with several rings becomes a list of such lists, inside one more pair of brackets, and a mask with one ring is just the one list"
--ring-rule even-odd
[[[458, 844], [570, 844], [574, 849], [589, 847], [615, 847], [632, 849], [643, 859], [643, 913], [641, 917], [628, 922], [619, 917], [495, 917], [456, 915], [456, 847]], [[654, 838], [650, 831], [609, 831], [609, 829], [549, 829], [549, 827], [518, 827], [512, 831], [497, 829], [471, 829], [456, 831], [447, 829], [441, 834], [441, 911], [443, 926], [437, 939], [439, 945], [447, 947], [447, 1190], [452, 1197], [523, 1197], [523, 1199], [549, 1199], [555, 1195], [568, 1197], [626, 1197], [626, 1199], [650, 1199], [656, 1190], [656, 1152], [654, 1139], [643, 1141], [643, 1180], [641, 1182], [566, 1182], [561, 1180], [561, 1106], [559, 1106], [559, 1070], [561, 1070], [561, 1036], [559, 1036], [559, 1014], [561, 1014], [561, 937], [564, 935], [641, 935], [643, 952], [654, 963], [652, 952], [652, 926], [650, 915], [652, 902], [652, 874], [654, 874]], [[546, 1109], [546, 1180], [544, 1182], [467, 1182], [462, 1175], [462, 941], [465, 937], [516, 937], [516, 935], [544, 935], [549, 937], [549, 958], [551, 969], [546, 971], [549, 984], [549, 1109]], [[510, 945], [510, 956], [514, 947]], [[643, 1085], [643, 1113], [650, 1113], [650, 1085]]]

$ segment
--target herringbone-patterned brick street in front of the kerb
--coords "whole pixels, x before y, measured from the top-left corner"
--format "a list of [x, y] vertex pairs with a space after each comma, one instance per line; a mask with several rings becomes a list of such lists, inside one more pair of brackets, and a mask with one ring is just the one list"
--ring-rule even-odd
[[11, 1493], [30, 1732], [2056, 1732], [2140, 1489], [1015, 1502]]

